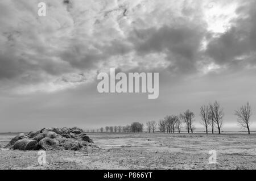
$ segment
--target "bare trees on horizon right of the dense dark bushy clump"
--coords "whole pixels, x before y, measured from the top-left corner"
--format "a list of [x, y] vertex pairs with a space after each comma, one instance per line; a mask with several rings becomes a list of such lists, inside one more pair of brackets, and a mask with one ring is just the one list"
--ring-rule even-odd
[[[235, 115], [238, 117], [238, 124], [242, 128], [246, 128], [250, 134], [250, 118], [252, 115], [250, 104], [246, 103], [244, 106], [240, 107], [235, 111]], [[210, 128], [212, 129], [212, 133], [214, 133], [214, 128], [217, 128], [218, 133], [221, 134], [224, 119], [224, 109], [217, 101], [201, 106], [200, 117], [202, 120], [200, 123], [204, 125], [207, 134]], [[193, 131], [196, 129], [195, 125], [193, 124], [194, 122], [195, 114], [192, 111], [187, 110], [184, 113], [180, 113], [178, 116], [171, 115], [164, 117], [163, 120], [159, 120], [158, 126], [161, 133], [175, 133], [176, 130], [178, 133], [180, 133], [183, 125], [185, 125], [185, 129], [187, 129], [188, 133], [193, 133]], [[148, 132], [151, 132], [151, 130], [153, 133], [155, 132], [155, 121], [148, 121], [146, 125]]]

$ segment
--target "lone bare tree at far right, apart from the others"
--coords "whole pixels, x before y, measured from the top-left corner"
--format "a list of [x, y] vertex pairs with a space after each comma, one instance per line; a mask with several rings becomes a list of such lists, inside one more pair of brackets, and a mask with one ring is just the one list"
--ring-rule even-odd
[[244, 106], [236, 110], [235, 115], [238, 117], [238, 124], [240, 124], [242, 128], [247, 128], [248, 134], [250, 134], [250, 118], [252, 112], [249, 102], [247, 102]]

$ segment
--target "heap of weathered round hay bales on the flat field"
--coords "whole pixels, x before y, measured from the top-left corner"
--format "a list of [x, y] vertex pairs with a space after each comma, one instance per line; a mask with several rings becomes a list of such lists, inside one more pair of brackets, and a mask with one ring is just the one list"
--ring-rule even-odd
[[82, 150], [92, 146], [90, 139], [81, 128], [43, 128], [28, 134], [20, 133], [5, 148], [18, 150]]

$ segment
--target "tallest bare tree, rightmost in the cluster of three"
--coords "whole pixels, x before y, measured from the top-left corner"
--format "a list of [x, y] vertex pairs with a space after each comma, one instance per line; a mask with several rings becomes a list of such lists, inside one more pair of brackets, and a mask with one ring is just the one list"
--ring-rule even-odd
[[223, 108], [220, 108], [220, 104], [215, 101], [213, 104], [210, 104], [210, 112], [211, 116], [213, 117], [214, 123], [218, 128], [218, 134], [220, 134], [224, 117]]

